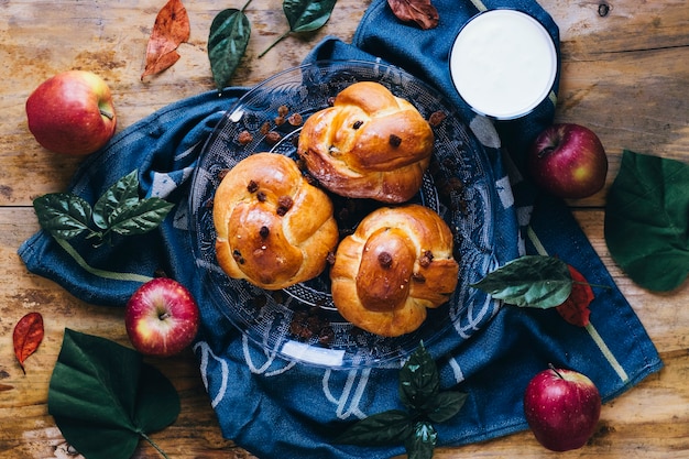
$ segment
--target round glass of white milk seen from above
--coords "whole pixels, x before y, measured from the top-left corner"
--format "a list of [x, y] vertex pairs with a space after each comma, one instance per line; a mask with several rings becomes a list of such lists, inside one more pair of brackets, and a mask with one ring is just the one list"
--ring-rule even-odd
[[473, 17], [457, 35], [449, 61], [460, 97], [477, 113], [496, 120], [534, 110], [550, 94], [558, 69], [548, 31], [510, 9]]

